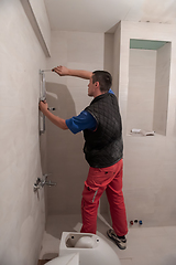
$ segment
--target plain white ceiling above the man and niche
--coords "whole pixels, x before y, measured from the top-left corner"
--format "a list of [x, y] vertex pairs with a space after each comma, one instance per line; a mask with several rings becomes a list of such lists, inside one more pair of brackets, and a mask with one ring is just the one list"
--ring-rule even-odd
[[113, 32], [123, 21], [176, 24], [176, 0], [44, 0], [52, 30]]

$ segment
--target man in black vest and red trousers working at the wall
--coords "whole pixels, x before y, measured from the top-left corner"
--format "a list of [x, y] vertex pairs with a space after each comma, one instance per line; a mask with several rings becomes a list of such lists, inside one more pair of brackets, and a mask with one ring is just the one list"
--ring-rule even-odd
[[106, 190], [113, 227], [108, 230], [107, 234], [124, 250], [128, 223], [122, 192], [122, 125], [118, 99], [111, 91], [111, 74], [106, 71], [88, 72], [65, 66], [57, 66], [53, 71], [59, 76], [89, 80], [88, 96], [94, 98], [78, 116], [66, 120], [52, 114], [46, 102], [40, 103], [41, 112], [61, 129], [69, 129], [73, 134], [84, 131], [84, 152], [90, 168], [82, 191], [80, 232], [96, 234], [99, 200]]

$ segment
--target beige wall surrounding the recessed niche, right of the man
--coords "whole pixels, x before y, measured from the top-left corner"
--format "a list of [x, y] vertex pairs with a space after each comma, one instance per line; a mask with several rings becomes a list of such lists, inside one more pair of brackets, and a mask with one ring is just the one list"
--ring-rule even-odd
[[[124, 139], [124, 198], [128, 220], [143, 225], [175, 225], [176, 220], [176, 36], [175, 25], [122, 21], [119, 103]], [[128, 131], [130, 39], [172, 42], [166, 135], [130, 136]], [[116, 46], [116, 42], [114, 42]], [[118, 43], [117, 43], [118, 46]], [[118, 61], [118, 59], [114, 59]], [[166, 62], [167, 64], [167, 62]], [[166, 66], [163, 64], [163, 68]], [[147, 75], [147, 73], [146, 73]], [[140, 78], [140, 75], [138, 76]], [[161, 95], [162, 96], [162, 95]], [[164, 95], [163, 95], [164, 96]], [[135, 107], [135, 106], [134, 106]], [[145, 115], [143, 119], [145, 120]], [[131, 127], [133, 125], [131, 124]]]

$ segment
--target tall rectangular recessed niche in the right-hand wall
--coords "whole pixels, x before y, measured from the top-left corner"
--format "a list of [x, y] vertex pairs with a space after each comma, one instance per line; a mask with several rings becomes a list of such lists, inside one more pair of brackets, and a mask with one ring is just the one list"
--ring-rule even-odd
[[166, 136], [170, 42], [130, 40], [127, 134], [132, 129]]

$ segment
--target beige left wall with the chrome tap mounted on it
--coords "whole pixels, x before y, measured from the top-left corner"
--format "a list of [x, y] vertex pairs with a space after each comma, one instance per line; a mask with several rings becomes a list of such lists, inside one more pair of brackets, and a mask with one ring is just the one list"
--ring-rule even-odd
[[38, 70], [46, 59], [20, 0], [0, 1], [0, 264], [36, 265], [45, 225], [44, 192], [33, 192], [42, 173]]

